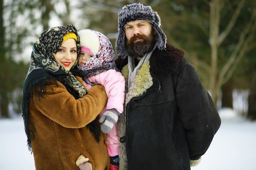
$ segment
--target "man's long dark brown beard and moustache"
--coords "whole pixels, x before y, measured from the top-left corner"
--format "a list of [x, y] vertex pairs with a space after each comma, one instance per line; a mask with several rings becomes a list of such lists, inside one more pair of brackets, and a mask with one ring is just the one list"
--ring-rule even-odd
[[[140, 41], [134, 42], [137, 38]], [[143, 57], [146, 53], [152, 51], [155, 46], [155, 37], [153, 31], [150, 35], [134, 35], [130, 40], [126, 39], [126, 51], [131, 57]]]

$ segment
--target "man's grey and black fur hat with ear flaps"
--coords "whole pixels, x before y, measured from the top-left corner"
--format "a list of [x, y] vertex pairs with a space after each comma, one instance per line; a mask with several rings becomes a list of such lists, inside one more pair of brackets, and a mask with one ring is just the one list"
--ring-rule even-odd
[[157, 32], [156, 45], [159, 50], [164, 49], [166, 46], [166, 35], [160, 28], [161, 19], [157, 12], [153, 11], [150, 6], [142, 3], [132, 3], [123, 7], [122, 11], [118, 14], [118, 34], [116, 40], [116, 51], [119, 58], [126, 58], [126, 35], [124, 27], [128, 22], [135, 20], [146, 20], [150, 22], [152, 28]]

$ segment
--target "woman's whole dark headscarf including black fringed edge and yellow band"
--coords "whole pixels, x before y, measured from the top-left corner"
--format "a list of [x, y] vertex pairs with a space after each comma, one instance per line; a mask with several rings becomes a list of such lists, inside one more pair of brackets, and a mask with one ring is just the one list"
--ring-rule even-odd
[[[70, 33], [74, 33], [76, 36], [72, 36]], [[65, 35], [68, 36], [65, 37]], [[33, 93], [38, 93], [40, 97], [43, 97], [43, 91], [47, 86], [45, 85], [47, 80], [51, 80], [53, 83], [56, 83], [58, 80], [63, 84], [68, 84], [71, 89], [74, 89], [74, 91], [79, 94], [79, 98], [83, 97], [87, 93], [84, 86], [71, 73], [72, 69], [67, 71], [65, 68], [60, 66], [54, 58], [64, 37], [65, 39], [76, 39], [78, 46], [77, 54], [79, 55], [79, 36], [73, 25], [58, 26], [45, 30], [33, 45], [29, 70], [23, 87], [22, 96], [22, 117], [24, 119], [29, 150], [31, 150], [33, 132], [29, 129], [29, 124], [31, 122], [29, 120], [28, 106], [29, 100], [33, 97]], [[76, 63], [77, 61], [78, 59], [76, 60]], [[72, 68], [76, 66], [76, 63]], [[38, 87], [40, 88], [40, 91], [37, 90]]]

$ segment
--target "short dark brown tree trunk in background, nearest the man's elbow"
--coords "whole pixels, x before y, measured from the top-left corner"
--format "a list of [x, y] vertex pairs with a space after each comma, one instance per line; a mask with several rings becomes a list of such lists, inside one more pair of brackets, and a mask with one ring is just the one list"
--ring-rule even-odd
[[229, 81], [222, 86], [222, 108], [233, 108], [233, 89], [234, 85], [232, 81]]

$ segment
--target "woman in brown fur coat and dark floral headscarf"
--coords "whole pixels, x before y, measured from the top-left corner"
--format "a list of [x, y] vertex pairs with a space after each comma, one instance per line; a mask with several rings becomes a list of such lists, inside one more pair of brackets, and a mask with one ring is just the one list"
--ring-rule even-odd
[[103, 86], [86, 91], [81, 84], [74, 68], [79, 46], [73, 25], [46, 30], [33, 45], [22, 117], [36, 170], [78, 170], [80, 155], [92, 169], [108, 170], [106, 135], [97, 123], [107, 95]]

